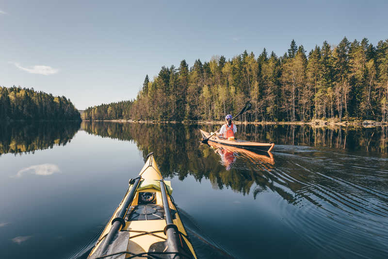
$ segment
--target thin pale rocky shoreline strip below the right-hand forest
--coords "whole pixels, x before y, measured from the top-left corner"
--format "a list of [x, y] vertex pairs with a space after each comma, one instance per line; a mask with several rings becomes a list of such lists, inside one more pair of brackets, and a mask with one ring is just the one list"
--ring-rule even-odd
[[[120, 123], [148, 123], [148, 124], [224, 124], [225, 121], [136, 121], [136, 120], [82, 120], [82, 121], [107, 121], [107, 122], [120, 122]], [[377, 127], [377, 126], [388, 126], [388, 122], [381, 121], [341, 121], [341, 122], [332, 122], [332, 121], [323, 121], [323, 120], [313, 120], [308, 122], [303, 121], [234, 121], [236, 125], [310, 125], [312, 127], [328, 127], [332, 125], [352, 127], [352, 126], [363, 126], [365, 128]]]

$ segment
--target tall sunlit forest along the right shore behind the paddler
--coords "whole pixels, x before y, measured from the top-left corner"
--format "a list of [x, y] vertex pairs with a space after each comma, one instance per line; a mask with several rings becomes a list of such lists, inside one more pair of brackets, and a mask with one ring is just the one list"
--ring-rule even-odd
[[[136, 100], [89, 107], [84, 119], [220, 120], [236, 114], [246, 101], [247, 121], [372, 119], [388, 121], [388, 40], [377, 46], [367, 38], [337, 46], [326, 41], [308, 54], [291, 41], [278, 57], [266, 49], [226, 60], [199, 59], [189, 68], [162, 67], [146, 76]], [[120, 107], [118, 112], [115, 107]]]

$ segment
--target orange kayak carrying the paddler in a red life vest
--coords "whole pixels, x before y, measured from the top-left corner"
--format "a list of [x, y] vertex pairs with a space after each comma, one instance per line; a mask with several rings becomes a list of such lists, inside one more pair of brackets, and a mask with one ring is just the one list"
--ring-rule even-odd
[[[206, 132], [204, 130], [201, 130], [202, 138], [209, 138], [210, 133]], [[251, 149], [251, 150], [261, 150], [261, 151], [267, 151], [270, 152], [275, 144], [274, 143], [259, 143], [259, 142], [252, 142], [252, 141], [246, 141], [246, 140], [240, 140], [240, 139], [234, 139], [234, 140], [228, 140], [227, 138], [222, 138], [220, 136], [212, 136], [209, 138], [209, 142], [214, 142], [217, 144], [222, 144], [226, 146], [231, 147], [238, 147], [238, 148], [244, 148], [244, 149]]]

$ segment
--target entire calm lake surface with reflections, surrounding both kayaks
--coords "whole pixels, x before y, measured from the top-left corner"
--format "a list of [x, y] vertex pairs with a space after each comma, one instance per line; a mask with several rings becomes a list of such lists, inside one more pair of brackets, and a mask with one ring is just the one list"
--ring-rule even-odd
[[388, 258], [387, 127], [238, 127], [272, 155], [200, 127], [1, 125], [0, 258], [85, 258], [151, 151], [199, 258]]

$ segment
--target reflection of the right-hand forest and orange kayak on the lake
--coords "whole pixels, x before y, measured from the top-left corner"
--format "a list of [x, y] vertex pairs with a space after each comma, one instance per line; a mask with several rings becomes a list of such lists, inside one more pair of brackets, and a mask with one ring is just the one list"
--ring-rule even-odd
[[[163, 177], [183, 180], [193, 175], [198, 181], [209, 179], [214, 189], [232, 190], [254, 197], [263, 190], [279, 193], [290, 203], [297, 202], [298, 193], [306, 185], [296, 165], [276, 161], [272, 154], [257, 154], [239, 148], [200, 145], [199, 128], [214, 131], [219, 125], [146, 124], [83, 121], [81, 128], [102, 137], [133, 141], [146, 154], [154, 152]], [[387, 127], [314, 128], [309, 125], [239, 125], [238, 138], [276, 145], [306, 145], [336, 150], [352, 149], [387, 153]], [[284, 147], [283, 147], [284, 148]], [[281, 149], [279, 147], [279, 149]], [[293, 152], [292, 147], [290, 147]], [[237, 162], [236, 162], [237, 159]], [[295, 167], [295, 168], [292, 168]], [[281, 169], [279, 169], [281, 168]], [[253, 188], [252, 188], [253, 187]], [[307, 197], [308, 198], [308, 197]]]

